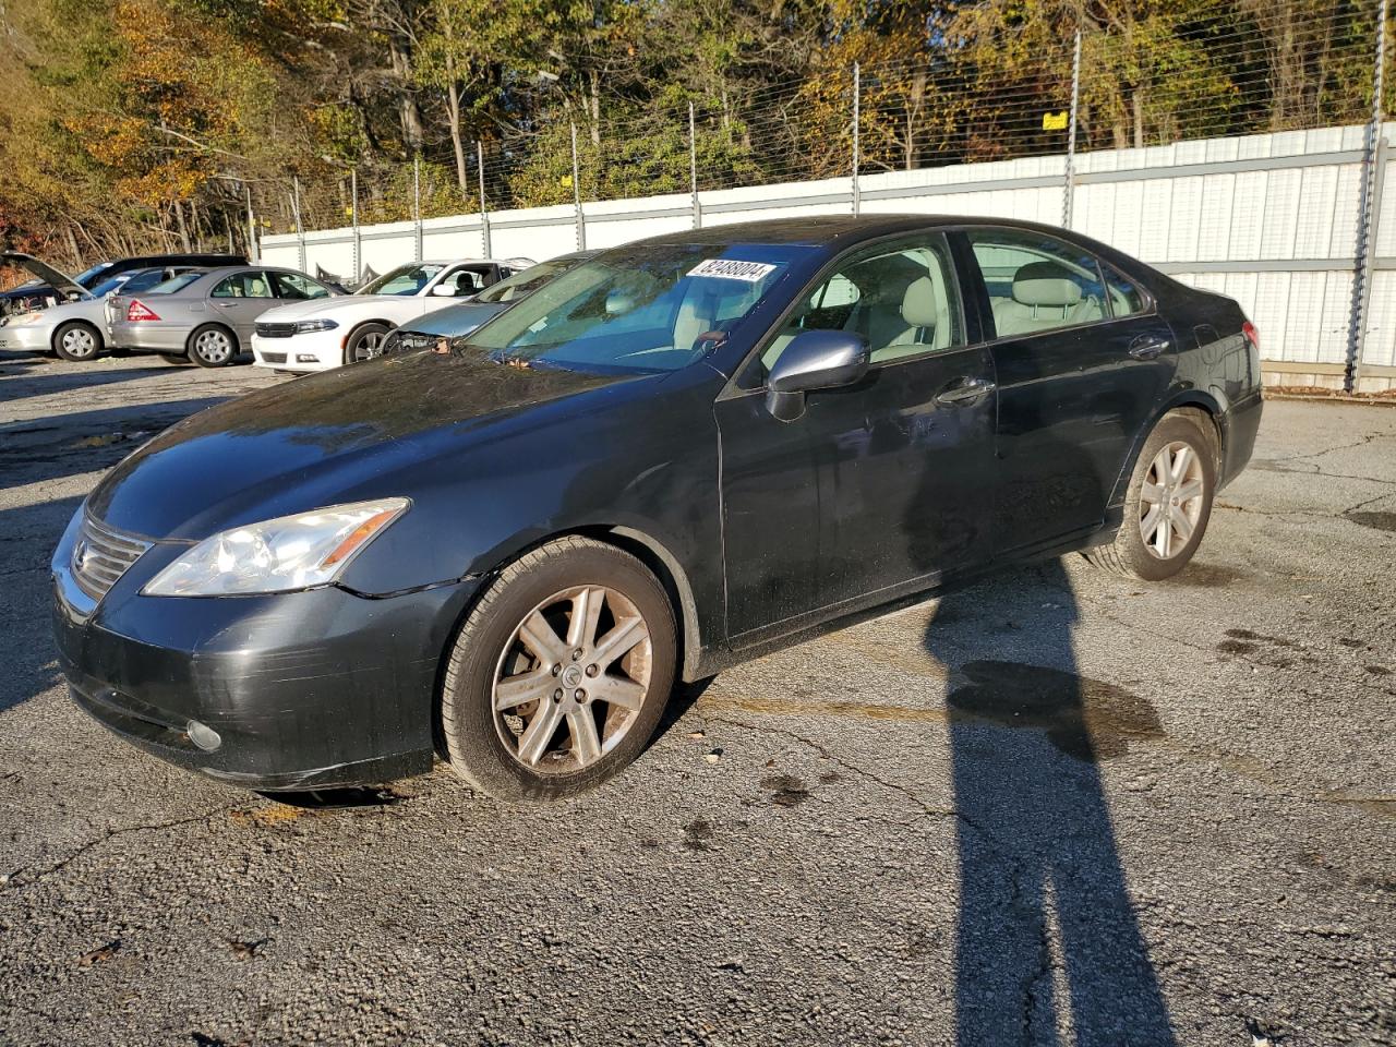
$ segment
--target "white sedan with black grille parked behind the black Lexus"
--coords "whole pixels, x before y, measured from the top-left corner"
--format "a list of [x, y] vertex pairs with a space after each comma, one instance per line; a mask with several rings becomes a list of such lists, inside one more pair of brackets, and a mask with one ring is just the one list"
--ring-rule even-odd
[[525, 269], [528, 258], [423, 261], [399, 265], [355, 295], [313, 299], [257, 318], [253, 356], [281, 371], [328, 371], [376, 356], [384, 336]]

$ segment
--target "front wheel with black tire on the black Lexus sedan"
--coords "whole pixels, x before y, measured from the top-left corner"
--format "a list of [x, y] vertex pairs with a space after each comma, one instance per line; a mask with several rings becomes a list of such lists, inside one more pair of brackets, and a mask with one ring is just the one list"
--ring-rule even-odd
[[[589, 607], [595, 610], [586, 614]], [[578, 613], [591, 637], [586, 625], [572, 625]], [[528, 641], [525, 623], [532, 623]], [[542, 644], [532, 638], [544, 637], [537, 623], [547, 627]], [[606, 641], [624, 653], [607, 655]], [[544, 648], [551, 658], [539, 656]], [[581, 659], [574, 658], [578, 651]], [[644, 751], [663, 716], [676, 664], [673, 607], [639, 560], [585, 537], [550, 542], [500, 572], [450, 651], [441, 688], [447, 758], [461, 778], [498, 800], [539, 803], [592, 789]], [[497, 691], [497, 681], [508, 678], [512, 694]], [[496, 711], [497, 701], [511, 705]], [[579, 741], [579, 733], [591, 741]]]

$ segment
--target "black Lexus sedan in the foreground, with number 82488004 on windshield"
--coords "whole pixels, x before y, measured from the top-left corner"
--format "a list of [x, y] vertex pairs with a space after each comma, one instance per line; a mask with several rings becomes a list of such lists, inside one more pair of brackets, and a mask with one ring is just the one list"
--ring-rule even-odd
[[53, 558], [78, 705], [261, 790], [556, 799], [676, 678], [1033, 557], [1178, 572], [1261, 419], [1234, 302], [998, 219], [660, 236], [444, 348], [113, 469]]

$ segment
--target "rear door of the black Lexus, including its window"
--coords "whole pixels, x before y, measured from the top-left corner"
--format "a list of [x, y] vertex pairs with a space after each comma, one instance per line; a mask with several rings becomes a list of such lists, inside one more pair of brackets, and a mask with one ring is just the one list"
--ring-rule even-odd
[[1177, 363], [1152, 300], [1044, 233], [970, 228], [970, 281], [998, 381], [995, 551], [1099, 526]]

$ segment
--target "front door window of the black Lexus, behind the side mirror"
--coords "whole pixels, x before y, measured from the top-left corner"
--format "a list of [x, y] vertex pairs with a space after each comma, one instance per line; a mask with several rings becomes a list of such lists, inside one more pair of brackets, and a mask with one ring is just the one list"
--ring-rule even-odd
[[965, 345], [953, 272], [938, 233], [860, 251], [800, 304], [761, 363], [769, 370], [801, 331], [854, 331], [874, 366]]

